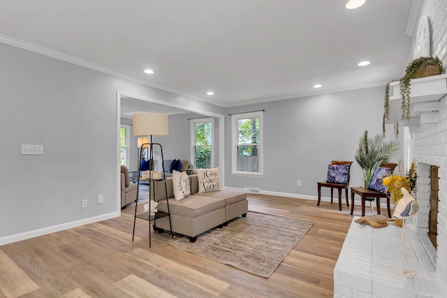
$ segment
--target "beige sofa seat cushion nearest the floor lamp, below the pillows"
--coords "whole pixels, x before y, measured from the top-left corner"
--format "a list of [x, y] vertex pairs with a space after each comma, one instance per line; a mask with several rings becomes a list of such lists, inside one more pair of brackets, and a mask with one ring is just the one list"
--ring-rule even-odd
[[[225, 202], [219, 198], [205, 197], [204, 195], [189, 195], [183, 200], [169, 200], [169, 210], [171, 214], [184, 216], [187, 218], [196, 218], [203, 214], [208, 214], [214, 210], [225, 207]], [[158, 209], [168, 211], [166, 200], [159, 201]]]

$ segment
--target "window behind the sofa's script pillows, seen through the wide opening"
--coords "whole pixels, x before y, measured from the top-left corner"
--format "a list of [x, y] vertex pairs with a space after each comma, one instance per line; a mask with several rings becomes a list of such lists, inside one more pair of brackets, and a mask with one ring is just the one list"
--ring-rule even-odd
[[213, 167], [213, 119], [191, 120], [191, 161], [196, 169], [210, 169]]

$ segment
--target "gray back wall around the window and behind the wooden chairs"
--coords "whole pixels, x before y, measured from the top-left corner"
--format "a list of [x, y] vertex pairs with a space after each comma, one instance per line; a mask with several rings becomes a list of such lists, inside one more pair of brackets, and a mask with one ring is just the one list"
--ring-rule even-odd
[[[365, 129], [372, 136], [381, 133], [383, 90], [360, 89], [228, 109], [230, 113], [265, 109], [264, 175], [231, 174], [231, 117], [226, 116], [226, 186], [316, 196], [316, 182], [325, 181], [331, 160], [353, 161], [351, 185], [362, 185], [354, 154]], [[302, 181], [301, 187], [297, 180]], [[329, 189], [323, 189], [322, 195], [330, 196]]]

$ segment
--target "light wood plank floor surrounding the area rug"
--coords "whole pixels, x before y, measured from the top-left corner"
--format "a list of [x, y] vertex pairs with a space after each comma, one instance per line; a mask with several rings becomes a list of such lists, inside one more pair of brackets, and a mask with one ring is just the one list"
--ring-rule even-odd
[[[200, 258], [122, 216], [0, 246], [3, 297], [332, 297], [333, 269], [352, 216], [344, 204], [249, 195], [249, 210], [315, 224], [270, 278]], [[356, 206], [355, 215], [360, 215]]]

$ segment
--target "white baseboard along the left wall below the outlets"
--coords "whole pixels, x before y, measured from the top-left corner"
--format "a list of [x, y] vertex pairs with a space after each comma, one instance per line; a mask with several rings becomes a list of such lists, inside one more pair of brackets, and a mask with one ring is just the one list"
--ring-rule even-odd
[[106, 219], [115, 218], [121, 215], [121, 210], [117, 212], [112, 212], [109, 214], [103, 214], [100, 216], [94, 216], [90, 218], [84, 218], [80, 221], [72, 221], [70, 223], [62, 223], [61, 225], [52, 225], [48, 228], [41, 228], [38, 230], [32, 230], [28, 232], [23, 232], [20, 234], [13, 234], [6, 237], [0, 237], [0, 246], [5, 244], [10, 244], [17, 241], [22, 241], [26, 239], [31, 239], [34, 237], [42, 236], [45, 234], [50, 234], [54, 232], [59, 232], [62, 230], [68, 230], [71, 228], [80, 227], [81, 225], [88, 225], [89, 223], [97, 223], [98, 221], [105, 221]]

